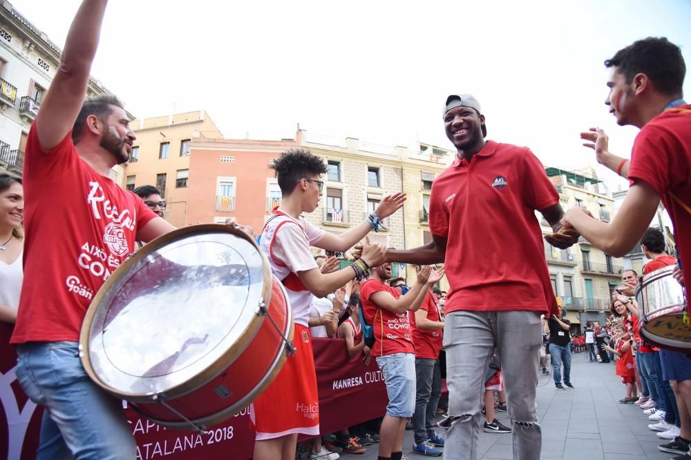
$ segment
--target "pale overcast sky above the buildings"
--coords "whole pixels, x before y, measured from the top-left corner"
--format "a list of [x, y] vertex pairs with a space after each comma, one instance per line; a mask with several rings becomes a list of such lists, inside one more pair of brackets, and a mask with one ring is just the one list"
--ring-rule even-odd
[[[59, 46], [78, 0], [12, 0]], [[315, 134], [452, 148], [446, 95], [470, 92], [488, 138], [546, 166], [594, 163], [578, 133], [635, 128], [603, 101], [603, 61], [665, 36], [691, 66], [691, 1], [111, 0], [92, 74], [136, 117], [204, 109], [227, 138]], [[691, 79], [685, 93], [691, 94]], [[616, 187], [623, 183], [598, 166]]]

